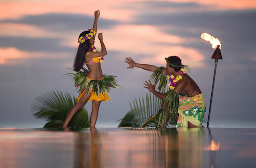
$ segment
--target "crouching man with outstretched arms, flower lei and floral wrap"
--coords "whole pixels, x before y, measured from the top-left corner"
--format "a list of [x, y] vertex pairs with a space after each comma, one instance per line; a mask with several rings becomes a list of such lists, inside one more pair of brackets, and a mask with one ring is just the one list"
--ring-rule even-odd
[[[184, 66], [181, 64], [181, 59], [177, 56], [170, 56], [165, 58], [167, 61], [166, 68], [156, 67], [154, 65], [138, 64], [135, 63], [130, 57], [125, 58], [125, 62], [129, 64], [127, 68], [142, 68], [147, 71], [157, 71], [166, 75], [169, 75], [168, 84], [169, 91], [167, 93], [160, 93], [155, 90], [156, 84], [152, 84], [150, 80], [145, 81], [145, 88], [155, 94], [157, 97], [164, 100], [164, 109], [161, 113], [157, 115], [156, 124], [157, 127], [165, 126], [166, 119], [169, 115], [175, 115], [179, 113], [177, 126], [178, 127], [201, 127], [203, 122], [203, 116], [206, 110], [205, 101], [203, 94], [200, 91], [197, 84], [188, 74], [185, 73]], [[159, 69], [161, 69], [159, 71]], [[185, 94], [185, 96], [179, 97], [180, 93]], [[170, 109], [169, 109], [170, 108]], [[170, 113], [167, 113], [170, 111]]]

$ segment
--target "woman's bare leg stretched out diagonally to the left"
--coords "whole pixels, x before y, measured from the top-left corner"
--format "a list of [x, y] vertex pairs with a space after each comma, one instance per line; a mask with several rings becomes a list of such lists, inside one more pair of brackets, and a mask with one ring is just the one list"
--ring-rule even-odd
[[78, 110], [80, 110], [82, 107], [85, 106], [85, 104], [87, 103], [87, 101], [89, 100], [90, 97], [91, 97], [90, 92], [84, 91], [84, 93], [82, 94], [79, 102], [75, 103], [75, 105], [69, 110], [69, 112], [66, 116], [66, 119], [65, 119], [63, 125], [61, 126], [61, 128], [66, 128], [69, 125], [69, 122], [73, 118], [75, 113]]

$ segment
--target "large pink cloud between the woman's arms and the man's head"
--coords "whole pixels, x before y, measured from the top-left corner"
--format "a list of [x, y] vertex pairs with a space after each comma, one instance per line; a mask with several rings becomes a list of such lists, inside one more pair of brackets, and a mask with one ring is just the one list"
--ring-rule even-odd
[[[102, 30], [102, 32], [108, 50], [130, 54], [123, 55], [123, 57], [133, 57], [138, 54], [148, 55], [148, 58], [139, 58], [137, 61], [165, 65], [165, 57], [177, 55], [184, 60], [184, 64], [189, 63], [190, 66], [203, 66], [204, 64], [204, 56], [197, 49], [181, 45], [189, 40], [165, 34], [154, 26], [123, 25], [116, 26], [111, 30]], [[95, 46], [100, 46], [98, 40], [95, 41]]]

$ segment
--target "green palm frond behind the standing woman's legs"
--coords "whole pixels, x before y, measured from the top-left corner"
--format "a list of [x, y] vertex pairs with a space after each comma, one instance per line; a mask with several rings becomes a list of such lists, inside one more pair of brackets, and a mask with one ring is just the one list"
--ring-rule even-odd
[[[35, 98], [31, 110], [36, 118], [44, 118], [48, 121], [44, 125], [45, 128], [59, 128], [76, 101], [77, 99], [69, 93], [49, 91]], [[70, 121], [69, 127], [89, 127], [87, 110], [84, 108], [79, 110]]]

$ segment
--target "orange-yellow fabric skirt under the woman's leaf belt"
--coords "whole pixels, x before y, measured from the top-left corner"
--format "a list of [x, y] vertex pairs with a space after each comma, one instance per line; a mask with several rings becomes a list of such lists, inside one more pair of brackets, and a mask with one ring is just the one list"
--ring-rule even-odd
[[[88, 78], [86, 77], [87, 79], [87, 84], [92, 80], [91, 78]], [[103, 78], [101, 78], [100, 80], [102, 80]], [[79, 96], [77, 98], [77, 103], [79, 102], [80, 98], [82, 97], [82, 94], [84, 94], [85, 92], [85, 89], [82, 90], [80, 93], [79, 93]], [[107, 93], [99, 93], [98, 95], [96, 94], [96, 92], [92, 91], [92, 89], [90, 90], [90, 93], [91, 93], [91, 97], [89, 98], [88, 101], [92, 101], [92, 100], [97, 100], [97, 101], [107, 101], [109, 100], [109, 97], [107, 95]]]

